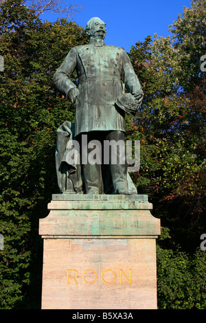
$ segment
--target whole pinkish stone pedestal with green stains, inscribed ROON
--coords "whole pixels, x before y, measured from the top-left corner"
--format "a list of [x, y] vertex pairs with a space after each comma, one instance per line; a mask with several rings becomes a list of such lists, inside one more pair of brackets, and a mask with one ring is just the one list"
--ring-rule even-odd
[[157, 309], [160, 221], [146, 195], [54, 194], [48, 208], [42, 309]]

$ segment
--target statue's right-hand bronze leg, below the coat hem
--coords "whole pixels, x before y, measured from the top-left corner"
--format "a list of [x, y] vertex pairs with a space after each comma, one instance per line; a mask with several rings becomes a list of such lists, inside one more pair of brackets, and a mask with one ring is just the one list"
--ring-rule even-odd
[[[106, 135], [106, 140], [114, 140], [117, 145], [110, 145], [109, 164], [113, 181], [113, 194], [130, 194], [127, 181], [127, 164], [124, 133], [111, 131]], [[118, 144], [119, 142], [119, 144]], [[122, 159], [122, 157], [124, 157]]]

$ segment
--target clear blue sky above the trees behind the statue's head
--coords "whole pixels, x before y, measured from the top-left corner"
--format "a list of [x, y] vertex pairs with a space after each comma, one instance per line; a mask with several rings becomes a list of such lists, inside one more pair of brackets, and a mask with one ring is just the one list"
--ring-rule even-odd
[[[83, 6], [80, 13], [72, 17], [73, 21], [86, 27], [87, 21], [98, 16], [106, 23], [106, 45], [124, 47], [126, 52], [137, 41], [146, 36], [168, 36], [168, 26], [183, 14], [183, 7], [190, 8], [189, 0], [63, 0], [65, 3], [78, 3]], [[41, 19], [56, 21], [58, 14], [42, 14]]]

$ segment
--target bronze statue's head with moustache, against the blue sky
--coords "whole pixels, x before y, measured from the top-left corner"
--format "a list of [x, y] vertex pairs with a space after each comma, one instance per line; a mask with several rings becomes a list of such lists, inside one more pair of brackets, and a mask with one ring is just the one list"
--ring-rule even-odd
[[88, 21], [86, 33], [90, 37], [104, 39], [106, 34], [106, 24], [100, 18], [95, 16]]

